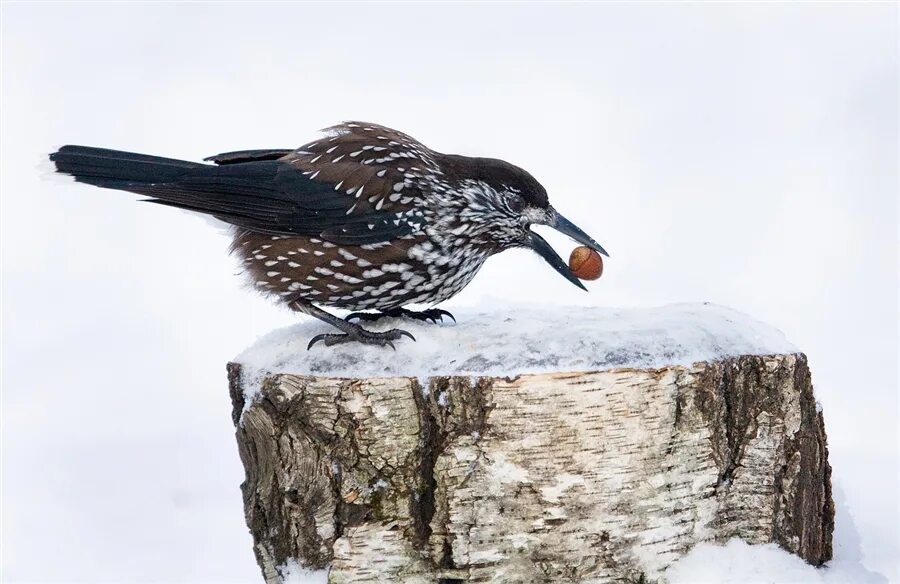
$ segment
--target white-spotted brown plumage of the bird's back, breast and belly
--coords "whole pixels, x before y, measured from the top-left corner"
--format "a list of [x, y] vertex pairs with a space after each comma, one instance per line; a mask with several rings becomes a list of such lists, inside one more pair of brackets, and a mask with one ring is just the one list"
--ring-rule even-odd
[[260, 289], [352, 310], [434, 304], [462, 290], [488, 257], [518, 245], [525, 226], [508, 204], [516, 185], [451, 172], [440, 163], [446, 155], [381, 126], [350, 122], [329, 132], [284, 160], [347, 197], [348, 225], [375, 232], [384, 223], [370, 217], [384, 216], [405, 232], [360, 244], [298, 236], [277, 253], [257, 246], [251, 266], [261, 260], [278, 270], [251, 270]]

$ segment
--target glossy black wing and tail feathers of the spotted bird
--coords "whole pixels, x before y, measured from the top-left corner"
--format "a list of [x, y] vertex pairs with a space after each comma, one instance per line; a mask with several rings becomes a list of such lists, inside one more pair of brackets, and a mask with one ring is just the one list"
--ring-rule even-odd
[[312, 171], [295, 163], [272, 160], [290, 152], [220, 154], [212, 157], [220, 166], [212, 166], [64, 146], [50, 159], [58, 172], [79, 182], [137, 193], [156, 204], [207, 213], [259, 233], [361, 245], [411, 232], [397, 214], [360, 204], [345, 189], [335, 188], [335, 182], [313, 180]]

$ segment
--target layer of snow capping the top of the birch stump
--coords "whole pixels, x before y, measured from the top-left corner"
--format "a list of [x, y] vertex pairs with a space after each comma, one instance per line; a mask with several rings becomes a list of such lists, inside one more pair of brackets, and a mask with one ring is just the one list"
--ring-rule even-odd
[[389, 347], [359, 344], [307, 351], [331, 327], [317, 320], [273, 331], [235, 357], [243, 366], [246, 403], [272, 373], [334, 377], [435, 375], [508, 376], [547, 371], [690, 365], [734, 355], [793, 353], [777, 329], [710, 303], [657, 308], [497, 306], [457, 310], [457, 324], [409, 319], [365, 323], [372, 330], [402, 328], [417, 341]]

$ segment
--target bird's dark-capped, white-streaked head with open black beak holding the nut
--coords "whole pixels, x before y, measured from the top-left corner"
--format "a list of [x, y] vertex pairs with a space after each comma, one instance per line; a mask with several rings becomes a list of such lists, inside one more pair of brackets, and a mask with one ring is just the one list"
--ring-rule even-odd
[[[564, 278], [585, 289], [568, 264], [547, 241], [532, 231], [547, 225], [605, 256], [609, 254], [587, 233], [550, 205], [547, 191], [521, 168], [492, 158], [448, 156], [457, 170], [456, 192], [462, 195], [451, 233], [466, 236], [493, 252], [527, 247]], [[458, 231], [458, 233], [455, 233]]]

